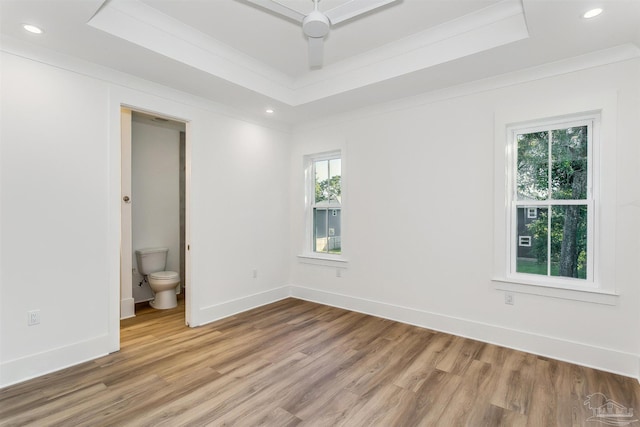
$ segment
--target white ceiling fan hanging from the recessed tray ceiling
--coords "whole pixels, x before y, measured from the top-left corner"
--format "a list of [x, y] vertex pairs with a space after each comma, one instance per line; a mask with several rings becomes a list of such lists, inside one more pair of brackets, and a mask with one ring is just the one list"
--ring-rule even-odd
[[324, 57], [324, 38], [329, 34], [329, 28], [332, 25], [398, 0], [350, 0], [324, 12], [318, 10], [319, 0], [311, 0], [314, 8], [307, 15], [280, 3], [278, 0], [245, 1], [301, 23], [302, 31], [307, 36], [309, 43], [309, 66], [320, 68]]

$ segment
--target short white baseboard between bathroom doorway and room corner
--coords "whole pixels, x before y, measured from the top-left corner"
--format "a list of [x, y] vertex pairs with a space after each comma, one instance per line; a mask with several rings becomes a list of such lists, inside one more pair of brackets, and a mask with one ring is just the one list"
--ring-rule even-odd
[[[225, 301], [220, 304], [210, 305], [200, 309], [195, 322], [190, 326], [201, 326], [234, 314], [242, 313], [256, 307], [280, 301], [291, 296], [291, 287], [282, 286], [265, 292], [249, 295], [246, 297]], [[193, 319], [192, 319], [193, 320]]]

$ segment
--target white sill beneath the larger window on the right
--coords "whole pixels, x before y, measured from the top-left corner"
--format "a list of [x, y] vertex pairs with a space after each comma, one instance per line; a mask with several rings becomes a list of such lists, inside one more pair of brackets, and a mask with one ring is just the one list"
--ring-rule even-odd
[[492, 281], [494, 282], [494, 288], [500, 291], [540, 295], [594, 304], [617, 305], [618, 297], [620, 296], [613, 291], [592, 287], [559, 287], [506, 278], [494, 278]]

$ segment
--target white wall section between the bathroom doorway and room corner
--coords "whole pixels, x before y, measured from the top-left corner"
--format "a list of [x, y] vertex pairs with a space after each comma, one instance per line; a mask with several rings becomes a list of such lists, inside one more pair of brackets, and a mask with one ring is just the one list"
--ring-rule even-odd
[[[290, 136], [239, 121], [189, 128], [194, 324], [288, 295]], [[197, 231], [196, 231], [197, 230]], [[257, 277], [253, 277], [257, 270]], [[197, 292], [197, 293], [196, 293]], [[187, 290], [187, 296], [189, 290]], [[224, 304], [221, 304], [224, 303]]]

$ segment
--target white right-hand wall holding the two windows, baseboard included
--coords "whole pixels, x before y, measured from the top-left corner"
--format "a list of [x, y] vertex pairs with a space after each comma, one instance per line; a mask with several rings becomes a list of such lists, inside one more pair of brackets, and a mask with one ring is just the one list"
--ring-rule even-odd
[[[530, 82], [494, 79], [493, 89], [469, 85], [467, 94], [425, 95], [296, 130], [293, 294], [638, 377], [640, 334], [629, 325], [640, 312], [639, 70], [633, 60]], [[536, 119], [567, 101], [611, 97], [599, 214], [613, 224], [601, 224], [611, 235], [598, 249], [608, 252], [601, 274], [619, 292], [617, 304], [518, 293], [505, 305], [492, 282], [501, 231], [494, 217], [504, 209], [494, 204], [497, 116], [517, 110]], [[336, 148], [346, 154], [349, 264], [341, 278], [334, 267], [296, 260], [304, 241], [302, 156]]]

